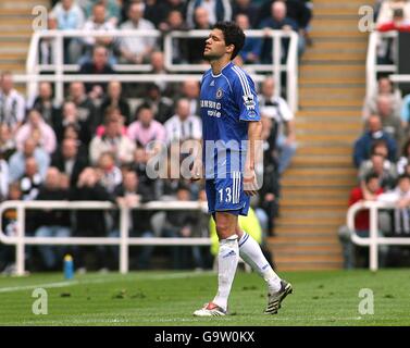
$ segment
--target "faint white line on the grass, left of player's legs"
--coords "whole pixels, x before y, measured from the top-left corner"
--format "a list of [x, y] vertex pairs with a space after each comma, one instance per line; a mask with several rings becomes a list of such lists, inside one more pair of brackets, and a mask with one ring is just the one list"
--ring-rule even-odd
[[58, 288], [58, 287], [66, 287], [66, 286], [75, 286], [80, 284], [103, 284], [103, 283], [113, 283], [113, 282], [138, 282], [141, 279], [152, 279], [152, 281], [161, 281], [161, 279], [177, 279], [177, 278], [185, 278], [191, 276], [203, 276], [203, 275], [213, 275], [211, 272], [189, 272], [189, 273], [170, 273], [170, 274], [144, 274], [144, 275], [135, 275], [133, 278], [110, 278], [110, 277], [101, 277], [96, 279], [84, 279], [84, 281], [65, 281], [65, 282], [55, 282], [55, 283], [45, 283], [45, 284], [37, 284], [37, 285], [25, 285], [25, 286], [11, 286], [11, 287], [2, 287], [0, 288], [0, 294], [4, 293], [15, 293], [15, 291], [23, 291], [23, 290], [34, 290], [36, 288]]

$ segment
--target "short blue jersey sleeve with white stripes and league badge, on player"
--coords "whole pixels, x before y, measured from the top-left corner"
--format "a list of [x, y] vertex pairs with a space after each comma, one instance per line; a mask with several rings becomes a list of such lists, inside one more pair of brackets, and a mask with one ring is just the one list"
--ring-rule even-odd
[[258, 96], [254, 90], [253, 80], [245, 74], [239, 67], [233, 67], [235, 79], [233, 83], [233, 92], [235, 101], [239, 108], [240, 121], [259, 121], [261, 115], [259, 112]]

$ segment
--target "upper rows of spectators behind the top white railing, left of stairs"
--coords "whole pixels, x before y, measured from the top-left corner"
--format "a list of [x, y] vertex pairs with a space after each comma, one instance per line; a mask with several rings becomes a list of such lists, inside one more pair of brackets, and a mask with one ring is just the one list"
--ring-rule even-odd
[[[55, 2], [55, 1], [54, 1]], [[308, 0], [61, 0], [49, 13], [48, 25], [53, 29], [82, 29], [110, 32], [116, 29], [170, 30], [209, 29], [216, 21], [236, 21], [244, 29], [293, 30], [299, 36], [299, 54], [311, 44], [310, 21], [312, 4]], [[53, 62], [53, 40], [42, 41], [40, 61]], [[65, 38], [64, 62], [90, 63], [92, 49], [102, 46], [107, 50], [109, 65], [116, 63], [150, 63], [151, 53], [162, 51], [162, 42], [154, 37]], [[198, 38], [173, 41], [173, 63], [203, 62], [204, 41]], [[283, 40], [286, 55], [288, 40]], [[189, 49], [188, 49], [189, 48]], [[238, 58], [246, 63], [271, 63], [272, 41], [251, 38], [246, 41]]]

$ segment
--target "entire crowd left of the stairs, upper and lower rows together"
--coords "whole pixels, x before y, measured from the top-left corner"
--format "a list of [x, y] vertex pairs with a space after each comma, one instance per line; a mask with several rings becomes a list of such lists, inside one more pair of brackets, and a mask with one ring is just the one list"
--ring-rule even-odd
[[[294, 8], [295, 7], [295, 8]], [[279, 10], [277, 10], [279, 9]], [[272, 10], [272, 11], [271, 11]], [[276, 12], [281, 16], [276, 16]], [[83, 30], [112, 28], [161, 30], [209, 28], [219, 20], [236, 20], [243, 28], [294, 29], [309, 38], [311, 9], [305, 1], [73, 1], [53, 4], [49, 23], [55, 28]], [[263, 24], [265, 23], [265, 24]], [[181, 63], [202, 60], [203, 39], [181, 42], [175, 59]], [[42, 58], [52, 59], [52, 42], [42, 41]], [[241, 59], [247, 64], [266, 61], [261, 39], [248, 39]], [[286, 42], [284, 42], [286, 45]], [[189, 46], [189, 50], [186, 48]], [[185, 47], [185, 48], [184, 48]], [[148, 37], [87, 37], [64, 39], [64, 61], [78, 63], [83, 74], [115, 74], [113, 64], [150, 63], [152, 72], [165, 73], [159, 42]], [[271, 53], [268, 49], [266, 52]], [[188, 55], [186, 55], [188, 54]], [[51, 61], [49, 61], [51, 62]], [[274, 235], [278, 214], [279, 177], [289, 165], [297, 145], [294, 114], [275, 94], [274, 78], [258, 86], [263, 132], [264, 185], [253, 201], [264, 235]], [[28, 100], [14, 87], [13, 75], [0, 76], [0, 202], [4, 200], [101, 200], [133, 206], [152, 200], [206, 200], [203, 183], [178, 178], [152, 178], [150, 159], [161, 144], [201, 139], [198, 80], [123, 85], [73, 82], [57, 102], [53, 86], [39, 83], [38, 94]], [[137, 103], [132, 102], [137, 97]], [[153, 147], [147, 147], [148, 145]], [[169, 153], [170, 154], [170, 153]], [[178, 154], [179, 161], [184, 158]], [[169, 163], [167, 171], [174, 164]], [[16, 234], [16, 211], [7, 211], [3, 231]], [[136, 237], [201, 237], [209, 235], [209, 220], [187, 212], [134, 210], [129, 235]], [[117, 211], [27, 211], [27, 236], [119, 236]], [[0, 271], [10, 271], [11, 247], [0, 245]], [[140, 247], [132, 266], [152, 266], [152, 253], [160, 248]], [[161, 249], [162, 250], [162, 249]], [[208, 252], [207, 252], [208, 251]], [[117, 266], [117, 247], [28, 247], [27, 266], [61, 268], [62, 256], [74, 254], [77, 268]], [[174, 268], [206, 268], [209, 248], [169, 248]], [[111, 257], [110, 257], [111, 256]], [[34, 258], [34, 259], [33, 259]], [[9, 265], [9, 266], [8, 266]]]

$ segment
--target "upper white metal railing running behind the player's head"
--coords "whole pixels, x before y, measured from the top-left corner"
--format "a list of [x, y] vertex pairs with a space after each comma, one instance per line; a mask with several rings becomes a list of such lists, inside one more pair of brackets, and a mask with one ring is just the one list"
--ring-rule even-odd
[[[25, 75], [15, 75], [14, 79], [16, 83], [26, 83], [27, 84], [27, 96], [29, 100], [33, 100], [37, 94], [38, 82], [49, 80], [55, 84], [55, 99], [57, 101], [63, 100], [63, 84], [66, 82], [75, 80], [80, 78], [82, 75], [67, 75], [66, 73], [73, 73], [78, 71], [79, 65], [77, 64], [64, 64], [64, 45], [63, 39], [67, 37], [153, 37], [162, 38], [164, 40], [164, 58], [165, 58], [165, 69], [170, 72], [167, 78], [163, 78], [163, 75], [156, 75], [160, 80], [167, 82], [179, 82], [185, 80], [188, 76], [192, 77], [194, 75], [178, 75], [176, 73], [187, 73], [187, 72], [204, 72], [209, 66], [207, 64], [173, 64], [172, 62], [172, 50], [173, 45], [172, 40], [181, 37], [203, 37], [206, 38], [209, 35], [209, 30], [188, 30], [188, 32], [170, 32], [166, 34], [161, 33], [160, 30], [110, 30], [110, 32], [99, 32], [99, 30], [38, 30], [35, 32], [32, 36], [27, 61], [26, 61], [26, 74]], [[293, 111], [297, 110], [298, 107], [298, 35], [294, 32], [283, 32], [283, 30], [246, 30], [246, 35], [250, 37], [270, 37], [273, 40], [272, 50], [273, 63], [272, 64], [249, 64], [245, 65], [245, 69], [253, 72], [252, 78], [257, 82], [263, 80], [263, 75], [256, 73], [272, 73], [276, 80], [275, 92], [281, 94], [281, 73], [285, 72], [287, 75], [287, 101]], [[41, 39], [52, 39], [53, 42], [53, 64], [40, 64], [39, 58], [39, 44]], [[282, 57], [282, 38], [289, 38], [289, 48], [287, 54], [287, 61], [285, 64], [281, 64]], [[152, 75], [149, 77], [144, 77], [144, 74], [150, 70], [148, 64], [115, 64], [114, 70], [117, 72], [129, 72], [127, 75], [115, 75], [115, 78], [120, 82], [146, 82], [146, 80], [157, 80], [152, 79]], [[40, 75], [44, 72], [53, 72], [51, 75]], [[131, 74], [136, 73], [136, 74]], [[137, 75], [139, 73], [139, 75]], [[46, 77], [47, 76], [47, 77]], [[70, 77], [69, 77], [70, 76]], [[126, 76], [126, 78], [124, 78]], [[98, 79], [100, 78], [100, 79]], [[196, 79], [201, 78], [201, 74], [195, 75]], [[88, 76], [88, 82], [109, 82], [112, 79], [111, 75], [104, 76]]]

